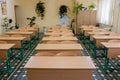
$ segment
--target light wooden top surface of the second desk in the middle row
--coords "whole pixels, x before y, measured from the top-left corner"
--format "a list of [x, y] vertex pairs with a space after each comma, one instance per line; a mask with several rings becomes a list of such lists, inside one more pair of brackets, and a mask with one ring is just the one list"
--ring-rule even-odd
[[83, 50], [80, 44], [38, 44], [36, 50]]

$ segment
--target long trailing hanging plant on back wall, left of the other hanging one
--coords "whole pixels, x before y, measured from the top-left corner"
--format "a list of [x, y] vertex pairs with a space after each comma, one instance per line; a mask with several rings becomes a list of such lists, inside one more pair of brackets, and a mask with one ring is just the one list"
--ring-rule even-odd
[[44, 6], [44, 4], [45, 4], [44, 2], [39, 1], [36, 4], [36, 9], [35, 9], [38, 17], [41, 17], [42, 20], [43, 20], [44, 15], [45, 15], [45, 6]]

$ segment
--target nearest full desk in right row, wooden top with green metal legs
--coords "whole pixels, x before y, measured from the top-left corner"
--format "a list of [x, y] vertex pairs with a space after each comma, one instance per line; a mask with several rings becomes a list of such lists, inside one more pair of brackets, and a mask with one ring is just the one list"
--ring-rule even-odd
[[105, 64], [104, 64], [104, 70], [114, 70], [120, 68], [111, 68], [109, 65], [109, 59], [110, 58], [116, 58], [118, 55], [120, 55], [120, 43], [111, 43], [111, 42], [101, 42], [101, 44], [105, 47]]

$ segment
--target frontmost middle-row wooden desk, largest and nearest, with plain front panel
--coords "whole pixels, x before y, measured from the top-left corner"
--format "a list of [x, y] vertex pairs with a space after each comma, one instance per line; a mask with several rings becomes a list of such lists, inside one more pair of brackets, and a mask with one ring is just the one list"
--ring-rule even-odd
[[25, 65], [28, 80], [92, 80], [90, 57], [33, 56]]

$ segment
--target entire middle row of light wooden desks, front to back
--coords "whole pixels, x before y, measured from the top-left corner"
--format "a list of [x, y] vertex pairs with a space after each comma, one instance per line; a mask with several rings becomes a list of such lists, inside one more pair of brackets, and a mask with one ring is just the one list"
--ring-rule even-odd
[[[57, 31], [57, 32], [56, 32]], [[92, 80], [92, 71], [95, 66], [89, 56], [56, 56], [60, 52], [78, 52], [81, 54], [82, 46], [77, 44], [52, 44], [47, 41], [75, 41], [77, 38], [73, 36], [64, 36], [69, 32], [68, 27], [50, 28], [46, 35], [42, 38], [42, 44], [38, 44], [35, 50], [39, 53], [51, 52], [54, 56], [37, 55], [32, 56], [25, 68], [27, 70], [28, 80]], [[61, 34], [63, 36], [51, 36], [53, 34]]]

